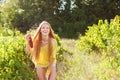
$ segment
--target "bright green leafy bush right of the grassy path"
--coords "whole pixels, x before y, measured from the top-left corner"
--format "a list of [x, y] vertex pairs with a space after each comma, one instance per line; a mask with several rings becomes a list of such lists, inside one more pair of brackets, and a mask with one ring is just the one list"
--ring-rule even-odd
[[98, 25], [89, 26], [85, 36], [80, 37], [79, 49], [100, 53], [107, 51], [107, 54], [119, 53], [119, 20], [119, 16], [116, 16], [110, 24], [107, 20], [99, 20]]

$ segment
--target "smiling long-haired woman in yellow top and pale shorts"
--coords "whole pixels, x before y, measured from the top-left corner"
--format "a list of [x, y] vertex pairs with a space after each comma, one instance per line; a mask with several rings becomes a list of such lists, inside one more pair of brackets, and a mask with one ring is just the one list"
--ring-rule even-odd
[[[47, 80], [47, 72], [50, 73], [48, 80], [55, 80], [57, 42], [51, 25], [47, 21], [41, 22], [32, 42], [30, 42], [30, 38], [31, 35], [28, 34], [26, 52], [30, 54], [35, 64], [39, 80]], [[33, 43], [33, 47], [31, 43]]]

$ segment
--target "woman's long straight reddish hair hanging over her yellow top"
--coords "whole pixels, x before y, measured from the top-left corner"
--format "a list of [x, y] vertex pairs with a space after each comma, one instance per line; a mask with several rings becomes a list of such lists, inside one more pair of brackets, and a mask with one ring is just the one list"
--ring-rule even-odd
[[49, 55], [51, 55], [52, 53], [52, 42], [51, 39], [55, 38], [54, 32], [52, 30], [51, 25], [47, 22], [47, 21], [42, 21], [39, 25], [39, 27], [37, 28], [37, 31], [33, 37], [33, 55], [32, 57], [35, 58], [35, 60], [38, 59], [39, 54], [40, 54], [40, 47], [41, 47], [41, 41], [42, 41], [42, 37], [41, 37], [41, 27], [42, 25], [47, 24], [50, 27], [50, 33], [49, 33], [49, 41], [48, 41], [48, 51], [49, 51]]

